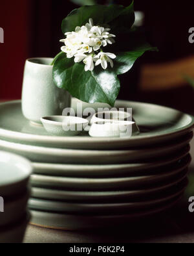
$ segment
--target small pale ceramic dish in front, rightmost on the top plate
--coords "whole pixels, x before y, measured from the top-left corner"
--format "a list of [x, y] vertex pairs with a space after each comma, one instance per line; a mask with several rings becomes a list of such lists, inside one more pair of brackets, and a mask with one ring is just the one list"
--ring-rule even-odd
[[92, 137], [125, 137], [140, 133], [135, 122], [130, 121], [95, 121], [89, 135]]

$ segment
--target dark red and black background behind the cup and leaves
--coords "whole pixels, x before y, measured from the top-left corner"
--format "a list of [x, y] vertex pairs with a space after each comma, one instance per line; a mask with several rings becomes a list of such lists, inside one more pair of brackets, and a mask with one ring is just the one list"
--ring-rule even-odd
[[[104, 1], [105, 2], [105, 1]], [[128, 5], [130, 1], [117, 1]], [[5, 44], [0, 44], [0, 99], [21, 97], [23, 66], [28, 57], [54, 57], [63, 38], [61, 21], [78, 6], [61, 0], [17, 0], [0, 2], [0, 27]], [[188, 30], [194, 27], [194, 1], [135, 0], [135, 10], [145, 13], [145, 29], [158, 53], [146, 53], [131, 73], [121, 78], [120, 98], [161, 103], [187, 112], [194, 110], [193, 88], [183, 81], [165, 90], [141, 90], [139, 68], [144, 64], [169, 63], [193, 57], [194, 44]], [[194, 61], [194, 60], [193, 60]], [[194, 77], [194, 71], [193, 71]], [[160, 77], [158, 77], [160, 80]], [[160, 83], [160, 82], [158, 82]]]

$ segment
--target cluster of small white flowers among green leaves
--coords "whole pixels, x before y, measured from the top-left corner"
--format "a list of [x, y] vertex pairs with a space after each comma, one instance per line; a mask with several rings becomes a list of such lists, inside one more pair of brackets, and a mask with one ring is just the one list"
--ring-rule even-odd
[[114, 34], [110, 34], [111, 29], [94, 26], [93, 20], [90, 18], [89, 23], [85, 26], [76, 27], [75, 31], [65, 33], [65, 39], [60, 40], [65, 46], [61, 47], [61, 51], [67, 53], [67, 58], [74, 57], [74, 62], [85, 64], [85, 71], [94, 70], [94, 66], [101, 64], [105, 70], [108, 62], [113, 68], [112, 58], [116, 58], [113, 53], [104, 53], [102, 47], [107, 44], [114, 43]]

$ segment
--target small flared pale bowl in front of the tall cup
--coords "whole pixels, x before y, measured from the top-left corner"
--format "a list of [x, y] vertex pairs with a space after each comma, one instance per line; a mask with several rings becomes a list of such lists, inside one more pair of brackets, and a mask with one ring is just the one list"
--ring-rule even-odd
[[88, 125], [88, 120], [77, 116], [45, 116], [41, 122], [46, 131], [55, 136], [76, 136]]

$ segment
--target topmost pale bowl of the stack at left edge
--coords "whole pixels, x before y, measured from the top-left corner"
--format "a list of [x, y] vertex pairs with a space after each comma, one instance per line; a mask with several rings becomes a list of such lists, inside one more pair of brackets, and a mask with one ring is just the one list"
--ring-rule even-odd
[[27, 159], [0, 151], [0, 196], [16, 196], [27, 189], [32, 165]]

